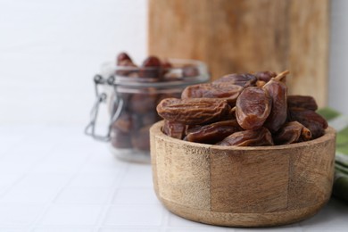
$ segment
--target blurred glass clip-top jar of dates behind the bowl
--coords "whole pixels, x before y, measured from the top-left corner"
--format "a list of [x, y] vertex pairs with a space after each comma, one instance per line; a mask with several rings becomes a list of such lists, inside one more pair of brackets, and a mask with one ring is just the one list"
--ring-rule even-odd
[[[96, 101], [86, 134], [108, 142], [111, 152], [121, 160], [150, 162], [149, 128], [162, 120], [156, 112], [157, 104], [163, 98], [180, 98], [185, 87], [210, 79], [203, 62], [179, 59], [169, 59], [169, 62], [170, 68], [104, 63], [101, 73], [95, 75]], [[95, 133], [101, 103], [108, 104], [110, 114], [105, 136]]]

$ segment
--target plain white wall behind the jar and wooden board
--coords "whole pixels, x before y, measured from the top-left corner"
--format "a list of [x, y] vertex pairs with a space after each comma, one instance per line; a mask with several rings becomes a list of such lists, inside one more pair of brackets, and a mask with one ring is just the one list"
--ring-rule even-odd
[[[0, 123], [85, 123], [104, 61], [147, 45], [146, 0], [0, 0]], [[328, 104], [348, 114], [348, 1], [333, 0]]]

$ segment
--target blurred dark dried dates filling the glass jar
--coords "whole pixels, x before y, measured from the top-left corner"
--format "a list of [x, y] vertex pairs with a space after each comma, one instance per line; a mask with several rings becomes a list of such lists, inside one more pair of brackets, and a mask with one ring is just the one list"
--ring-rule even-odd
[[120, 111], [120, 115], [111, 127], [112, 147], [147, 153], [149, 128], [162, 119], [156, 106], [164, 98], [179, 98], [184, 87], [203, 83], [208, 75], [195, 63], [170, 62], [153, 55], [137, 65], [128, 54], [121, 53], [116, 65], [113, 74], [118, 82], [112, 83], [115, 94], [110, 109], [112, 114]]

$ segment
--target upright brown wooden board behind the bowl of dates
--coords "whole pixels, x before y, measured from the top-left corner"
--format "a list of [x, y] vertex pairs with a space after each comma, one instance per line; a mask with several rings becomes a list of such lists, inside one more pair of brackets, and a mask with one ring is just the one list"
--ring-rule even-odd
[[327, 104], [329, 0], [149, 0], [148, 53], [231, 72], [290, 70], [289, 94]]

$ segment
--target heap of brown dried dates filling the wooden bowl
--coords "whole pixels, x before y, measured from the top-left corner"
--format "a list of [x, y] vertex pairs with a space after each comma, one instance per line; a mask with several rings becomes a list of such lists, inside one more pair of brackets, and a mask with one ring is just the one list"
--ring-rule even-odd
[[327, 121], [308, 95], [287, 95], [286, 75], [229, 74], [163, 99], [164, 134], [211, 145], [288, 145], [321, 137]]

